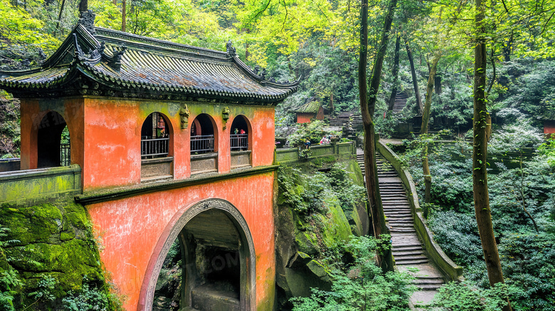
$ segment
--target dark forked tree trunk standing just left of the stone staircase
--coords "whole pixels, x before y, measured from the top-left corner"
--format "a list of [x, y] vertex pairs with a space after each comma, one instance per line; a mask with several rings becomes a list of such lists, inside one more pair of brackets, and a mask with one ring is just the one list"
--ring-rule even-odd
[[[359, 57], [359, 95], [362, 122], [364, 125], [364, 172], [366, 174], [366, 191], [370, 201], [370, 214], [374, 227], [374, 236], [389, 234], [386, 226], [384, 207], [381, 205], [379, 191], [378, 167], [376, 165], [376, 133], [374, 131], [374, 109], [376, 107], [376, 94], [378, 93], [381, 70], [384, 65], [389, 31], [393, 21], [393, 11], [397, 0], [392, 0], [386, 13], [384, 33], [381, 36], [381, 45], [376, 55], [372, 77], [369, 81], [369, 90], [366, 88], [366, 58], [368, 56], [368, 0], [361, 2], [361, 36]], [[379, 256], [379, 265], [382, 270], [393, 270], [393, 255], [391, 249], [383, 256]]]

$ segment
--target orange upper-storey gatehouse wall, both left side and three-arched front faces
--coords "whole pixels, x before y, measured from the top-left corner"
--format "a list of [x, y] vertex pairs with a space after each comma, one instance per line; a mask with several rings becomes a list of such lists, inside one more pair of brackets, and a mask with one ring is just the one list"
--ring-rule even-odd
[[[245, 116], [250, 124], [253, 167], [273, 164], [274, 107], [187, 102], [191, 111], [189, 127], [181, 129], [180, 105], [180, 102], [112, 98], [23, 100], [21, 168], [36, 168], [38, 125], [50, 110], [60, 113], [68, 123], [72, 164], [80, 164], [83, 169], [85, 192], [140, 184], [140, 132], [142, 123], [152, 112], [162, 112], [169, 121], [169, 155], [174, 157], [174, 179], [191, 176], [190, 126], [201, 113], [210, 115], [215, 125], [219, 173], [231, 169], [229, 135], [231, 123], [237, 115]], [[224, 107], [230, 110], [226, 121], [221, 113]]]

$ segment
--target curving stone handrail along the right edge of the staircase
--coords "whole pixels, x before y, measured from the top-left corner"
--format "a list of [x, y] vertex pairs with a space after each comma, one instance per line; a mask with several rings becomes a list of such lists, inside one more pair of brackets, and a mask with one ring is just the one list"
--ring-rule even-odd
[[408, 202], [411, 204], [411, 211], [414, 215], [414, 228], [418, 234], [418, 238], [424, 243], [425, 251], [430, 255], [433, 263], [439, 268], [441, 273], [450, 280], [462, 281], [462, 267], [456, 265], [448, 255], [445, 255], [441, 247], [433, 239], [433, 233], [428, 228], [428, 221], [423, 216], [420, 204], [418, 204], [418, 194], [413, 178], [407, 169], [401, 166], [398, 156], [393, 150], [389, 149], [384, 142], [378, 141], [376, 144], [377, 151], [391, 163], [397, 171], [403, 186], [408, 191]]

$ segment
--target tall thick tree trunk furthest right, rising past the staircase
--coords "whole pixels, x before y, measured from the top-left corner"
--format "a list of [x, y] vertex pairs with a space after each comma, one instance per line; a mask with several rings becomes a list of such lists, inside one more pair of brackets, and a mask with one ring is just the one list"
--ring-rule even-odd
[[[492, 214], [490, 210], [490, 197], [487, 190], [487, 112], [485, 88], [486, 88], [486, 28], [485, 4], [482, 0], [476, 0], [476, 42], [474, 63], [474, 144], [472, 150], [472, 189], [474, 191], [474, 209], [480, 240], [484, 250], [484, 259], [487, 267], [487, 276], [490, 285], [504, 283], [499, 251], [495, 243], [495, 235], [492, 226]], [[507, 297], [507, 305], [504, 311], [511, 311], [511, 305]]]

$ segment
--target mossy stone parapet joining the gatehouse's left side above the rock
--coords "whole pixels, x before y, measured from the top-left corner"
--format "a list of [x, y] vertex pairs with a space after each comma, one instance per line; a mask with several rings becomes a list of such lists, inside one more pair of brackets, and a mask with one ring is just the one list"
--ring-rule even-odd
[[1, 172], [0, 189], [0, 202], [80, 194], [81, 168], [73, 164], [69, 167]]

